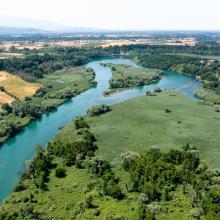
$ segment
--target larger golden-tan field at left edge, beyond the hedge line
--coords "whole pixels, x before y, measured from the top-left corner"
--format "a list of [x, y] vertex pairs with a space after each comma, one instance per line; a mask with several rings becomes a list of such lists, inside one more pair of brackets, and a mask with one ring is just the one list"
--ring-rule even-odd
[[27, 96], [32, 96], [41, 85], [26, 82], [18, 76], [1, 71], [0, 86], [3, 86], [7, 93], [23, 100]]

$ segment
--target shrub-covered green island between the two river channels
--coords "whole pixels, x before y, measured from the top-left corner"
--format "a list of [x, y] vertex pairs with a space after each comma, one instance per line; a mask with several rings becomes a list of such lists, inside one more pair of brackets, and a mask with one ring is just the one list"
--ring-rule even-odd
[[160, 79], [160, 71], [156, 69], [137, 68], [123, 64], [104, 64], [111, 68], [112, 79], [110, 89], [143, 86]]

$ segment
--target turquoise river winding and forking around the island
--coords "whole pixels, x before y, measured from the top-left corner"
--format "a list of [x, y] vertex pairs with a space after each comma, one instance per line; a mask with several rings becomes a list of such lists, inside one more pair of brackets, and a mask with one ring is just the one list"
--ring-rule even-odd
[[112, 76], [111, 70], [100, 65], [101, 63], [129, 64], [137, 66], [129, 59], [114, 58], [90, 62], [86, 67], [95, 70], [97, 87], [91, 88], [68, 102], [59, 106], [56, 111], [45, 113], [41, 119], [30, 123], [21, 133], [10, 138], [0, 148], [0, 202], [11, 193], [18, 182], [21, 173], [25, 169], [25, 161], [30, 160], [38, 144], [46, 147], [48, 141], [53, 138], [61, 126], [70, 122], [75, 116], [84, 115], [87, 109], [97, 104], [115, 104], [137, 96], [142, 96], [147, 90], [155, 87], [163, 89], [175, 88], [184, 94], [196, 99], [193, 95], [195, 89], [201, 83], [175, 72], [165, 71], [164, 77], [157, 83], [143, 87], [124, 90], [110, 97], [103, 97], [103, 91], [109, 86]]

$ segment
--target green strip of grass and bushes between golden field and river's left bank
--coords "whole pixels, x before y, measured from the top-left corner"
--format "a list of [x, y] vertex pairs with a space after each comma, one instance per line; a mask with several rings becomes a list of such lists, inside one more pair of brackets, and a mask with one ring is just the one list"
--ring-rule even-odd
[[31, 120], [38, 119], [46, 111], [95, 85], [94, 71], [82, 67], [65, 69], [48, 74], [41, 80], [43, 87], [24, 101], [16, 100], [3, 105], [0, 115], [0, 143], [18, 133]]

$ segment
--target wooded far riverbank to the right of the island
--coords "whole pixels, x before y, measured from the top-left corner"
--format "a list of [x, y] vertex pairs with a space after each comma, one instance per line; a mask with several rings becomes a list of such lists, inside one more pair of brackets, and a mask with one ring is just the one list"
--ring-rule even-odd
[[148, 68], [171, 70], [186, 74], [203, 84], [197, 97], [218, 104], [220, 97], [219, 71], [220, 62], [203, 56], [186, 56], [181, 54], [146, 54], [133, 58], [138, 64]]

